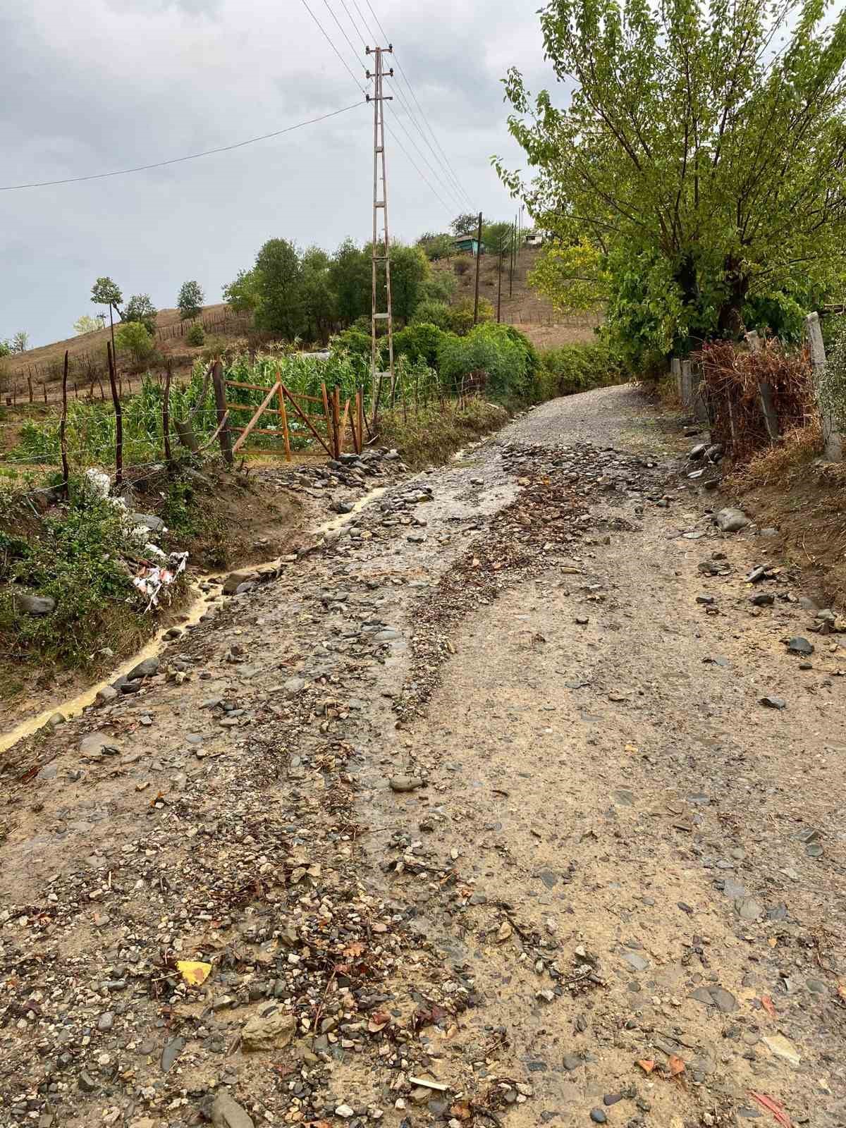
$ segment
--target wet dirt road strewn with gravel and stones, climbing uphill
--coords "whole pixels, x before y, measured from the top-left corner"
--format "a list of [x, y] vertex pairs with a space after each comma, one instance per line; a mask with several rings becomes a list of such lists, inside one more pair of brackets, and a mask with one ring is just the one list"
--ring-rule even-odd
[[846, 1123], [846, 636], [670, 431], [547, 404], [9, 754], [2, 1123]]

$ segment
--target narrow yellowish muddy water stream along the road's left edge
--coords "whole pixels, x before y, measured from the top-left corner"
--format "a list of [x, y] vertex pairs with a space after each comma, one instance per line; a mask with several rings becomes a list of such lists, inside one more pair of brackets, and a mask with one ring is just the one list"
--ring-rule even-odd
[[[338, 513], [337, 517], [333, 517], [328, 521], [324, 521], [323, 525], [319, 525], [314, 530], [315, 535], [325, 536], [326, 534], [338, 531], [344, 526], [353, 521], [355, 517], [372, 501], [376, 501], [377, 497], [381, 497], [386, 488], [387, 486], [377, 486], [373, 490], [368, 491], [368, 493], [355, 502], [349, 513]], [[261, 573], [265, 570], [273, 569], [279, 564], [279, 559], [266, 561], [263, 564], [250, 565], [250, 571]], [[215, 581], [220, 581], [223, 576], [229, 575], [230, 572], [236, 571], [238, 571], [237, 565], [227, 569], [224, 572], [205, 572], [195, 576], [191, 584], [188, 602], [179, 618], [178, 625], [182, 629], [195, 626], [203, 615], [205, 615], [210, 608], [214, 607], [220, 601], [221, 591]], [[210, 584], [211, 587], [209, 587]], [[26, 737], [32, 737], [39, 729], [43, 729], [44, 725], [49, 724], [51, 717], [53, 717], [56, 713], [61, 713], [67, 721], [72, 716], [77, 716], [89, 705], [92, 705], [100, 689], [112, 685], [112, 682], [117, 678], [127, 675], [130, 670], [134, 669], [139, 662], [143, 662], [146, 658], [153, 658], [158, 655], [166, 641], [165, 635], [168, 629], [168, 627], [162, 627], [158, 631], [149, 642], [132, 654], [131, 658], [121, 662], [121, 664], [113, 669], [111, 673], [103, 678], [102, 681], [89, 686], [88, 689], [81, 690], [81, 693], [78, 693], [74, 697], [71, 697], [68, 700], [56, 702], [47, 708], [42, 710], [39, 713], [26, 717], [9, 732], [0, 735], [0, 752], [6, 752], [19, 740], [24, 740]]]

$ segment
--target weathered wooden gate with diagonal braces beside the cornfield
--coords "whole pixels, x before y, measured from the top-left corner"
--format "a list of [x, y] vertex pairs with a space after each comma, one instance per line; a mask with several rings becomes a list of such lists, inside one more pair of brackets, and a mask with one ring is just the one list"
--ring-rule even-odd
[[[279, 372], [276, 373], [279, 377]], [[238, 439], [231, 447], [232, 455], [238, 451], [247, 453], [248, 448], [244, 446], [252, 434], [268, 434], [276, 439], [282, 439], [284, 455], [291, 461], [291, 431], [289, 426], [290, 405], [293, 415], [299, 418], [320, 443], [329, 458], [340, 458], [343, 453], [347, 430], [352, 437], [352, 446], [356, 455], [360, 455], [364, 446], [364, 406], [361, 389], [353, 398], [345, 402], [341, 407], [341, 390], [333, 388], [328, 391], [325, 384], [320, 385], [320, 396], [309, 396], [303, 391], [291, 391], [276, 379], [276, 382], [268, 387], [266, 384], [245, 384], [240, 380], [224, 380], [226, 388], [244, 388], [250, 391], [265, 393], [264, 399], [256, 407], [254, 404], [235, 404], [226, 399], [224, 407], [228, 420], [227, 428], [232, 432], [240, 432]], [[271, 404], [277, 404], [272, 407]], [[315, 406], [312, 406], [315, 405]], [[231, 422], [233, 412], [250, 412], [249, 421], [239, 426]], [[275, 428], [259, 426], [262, 416], [265, 414], [275, 415], [279, 424]], [[279, 450], [266, 448], [252, 448], [253, 452], [263, 455], [281, 453]]]

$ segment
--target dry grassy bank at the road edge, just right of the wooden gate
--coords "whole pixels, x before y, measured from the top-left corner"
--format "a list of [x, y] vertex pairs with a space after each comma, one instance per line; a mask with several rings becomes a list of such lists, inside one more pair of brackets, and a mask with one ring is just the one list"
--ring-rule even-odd
[[379, 442], [396, 447], [416, 470], [446, 462], [456, 450], [503, 426], [508, 418], [504, 407], [484, 399], [469, 399], [462, 407], [446, 400], [443, 407], [439, 404], [416, 413], [409, 411], [406, 418], [402, 408], [395, 407], [379, 415]]

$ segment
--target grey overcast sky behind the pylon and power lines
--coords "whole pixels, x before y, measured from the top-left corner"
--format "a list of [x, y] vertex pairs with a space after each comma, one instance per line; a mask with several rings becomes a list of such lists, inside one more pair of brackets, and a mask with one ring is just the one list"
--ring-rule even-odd
[[[350, 67], [367, 60], [368, 0], [308, 0]], [[536, 0], [370, 0], [461, 186], [490, 218], [515, 204], [490, 166], [520, 165], [500, 79], [549, 81]], [[370, 33], [361, 27], [364, 37]], [[109, 171], [230, 144], [349, 106], [362, 96], [302, 0], [5, 0], [0, 6], [0, 184]], [[407, 90], [400, 90], [408, 99]], [[413, 103], [412, 103], [413, 105]], [[398, 118], [398, 121], [391, 121]], [[472, 210], [398, 100], [389, 124], [443, 199], [388, 139], [391, 235], [443, 230]], [[399, 122], [435, 166], [423, 164]], [[0, 338], [72, 334], [108, 274], [174, 306], [186, 279], [206, 302], [265, 239], [334, 248], [371, 228], [372, 111], [363, 105], [287, 136], [200, 160], [83, 184], [0, 192]]]

